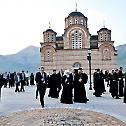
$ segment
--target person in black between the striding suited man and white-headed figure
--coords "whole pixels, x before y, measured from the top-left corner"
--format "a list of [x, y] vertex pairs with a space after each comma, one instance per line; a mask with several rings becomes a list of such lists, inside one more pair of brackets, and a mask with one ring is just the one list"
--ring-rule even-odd
[[49, 90], [49, 97], [51, 98], [58, 98], [59, 97], [59, 90], [60, 90], [60, 84], [61, 83], [61, 77], [59, 74], [56, 74], [56, 70], [53, 70], [53, 74], [50, 75], [49, 81], [48, 81], [48, 88]]

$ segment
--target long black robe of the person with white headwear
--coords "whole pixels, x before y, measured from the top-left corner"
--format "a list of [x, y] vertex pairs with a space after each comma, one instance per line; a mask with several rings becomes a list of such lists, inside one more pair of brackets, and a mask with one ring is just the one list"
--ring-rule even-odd
[[72, 104], [73, 103], [73, 76], [70, 74], [69, 76], [64, 75], [62, 78], [62, 94], [61, 94], [61, 103]]

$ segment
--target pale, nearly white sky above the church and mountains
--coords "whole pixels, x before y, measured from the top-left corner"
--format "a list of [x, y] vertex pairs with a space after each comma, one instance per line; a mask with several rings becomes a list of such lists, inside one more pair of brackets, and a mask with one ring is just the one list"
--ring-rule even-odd
[[92, 35], [104, 25], [112, 31], [115, 46], [126, 43], [126, 0], [0, 0], [0, 55], [40, 46], [43, 31], [62, 35], [65, 17], [76, 10], [88, 18]]

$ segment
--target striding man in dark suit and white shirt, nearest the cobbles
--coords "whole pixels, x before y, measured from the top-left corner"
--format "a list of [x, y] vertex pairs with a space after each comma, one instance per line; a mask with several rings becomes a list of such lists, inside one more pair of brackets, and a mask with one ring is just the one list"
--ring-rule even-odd
[[41, 67], [41, 71], [36, 73], [35, 81], [38, 84], [41, 106], [44, 107], [44, 96], [47, 86], [47, 74], [44, 72], [44, 67]]

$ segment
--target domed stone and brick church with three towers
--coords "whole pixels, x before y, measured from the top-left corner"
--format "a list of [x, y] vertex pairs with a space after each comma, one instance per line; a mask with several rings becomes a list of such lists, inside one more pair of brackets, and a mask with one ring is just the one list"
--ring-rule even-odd
[[91, 71], [99, 68], [112, 70], [117, 68], [117, 50], [111, 40], [111, 30], [101, 28], [92, 35], [88, 28], [88, 18], [77, 10], [65, 18], [65, 29], [62, 36], [51, 28], [43, 32], [41, 42], [41, 65], [45, 71], [53, 69], [71, 69], [82, 67], [89, 73], [87, 56], [91, 53]]

